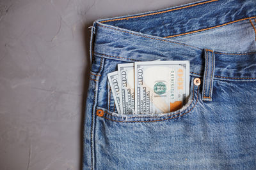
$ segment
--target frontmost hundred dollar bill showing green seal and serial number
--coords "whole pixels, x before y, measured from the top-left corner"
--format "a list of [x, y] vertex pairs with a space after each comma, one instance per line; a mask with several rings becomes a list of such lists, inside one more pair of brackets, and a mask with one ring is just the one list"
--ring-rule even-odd
[[135, 112], [179, 110], [189, 96], [189, 61], [134, 63]]

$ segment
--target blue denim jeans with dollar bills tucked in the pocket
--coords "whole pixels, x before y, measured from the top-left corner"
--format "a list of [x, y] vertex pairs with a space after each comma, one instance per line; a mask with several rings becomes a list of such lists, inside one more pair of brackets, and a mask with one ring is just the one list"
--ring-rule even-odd
[[[255, 0], [95, 21], [83, 169], [256, 169], [255, 22]], [[190, 61], [188, 103], [161, 115], [118, 115], [107, 74], [157, 59]]]

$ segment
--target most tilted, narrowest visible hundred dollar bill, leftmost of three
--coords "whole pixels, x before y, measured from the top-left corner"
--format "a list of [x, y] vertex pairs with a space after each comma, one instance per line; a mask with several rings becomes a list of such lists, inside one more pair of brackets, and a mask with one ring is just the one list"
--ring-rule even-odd
[[120, 100], [121, 89], [120, 89], [120, 81], [118, 78], [118, 71], [108, 73], [108, 81], [109, 81], [109, 85], [111, 87], [111, 91], [116, 104], [117, 113], [121, 114], [120, 110], [122, 110], [122, 104], [121, 104], [122, 101]]

